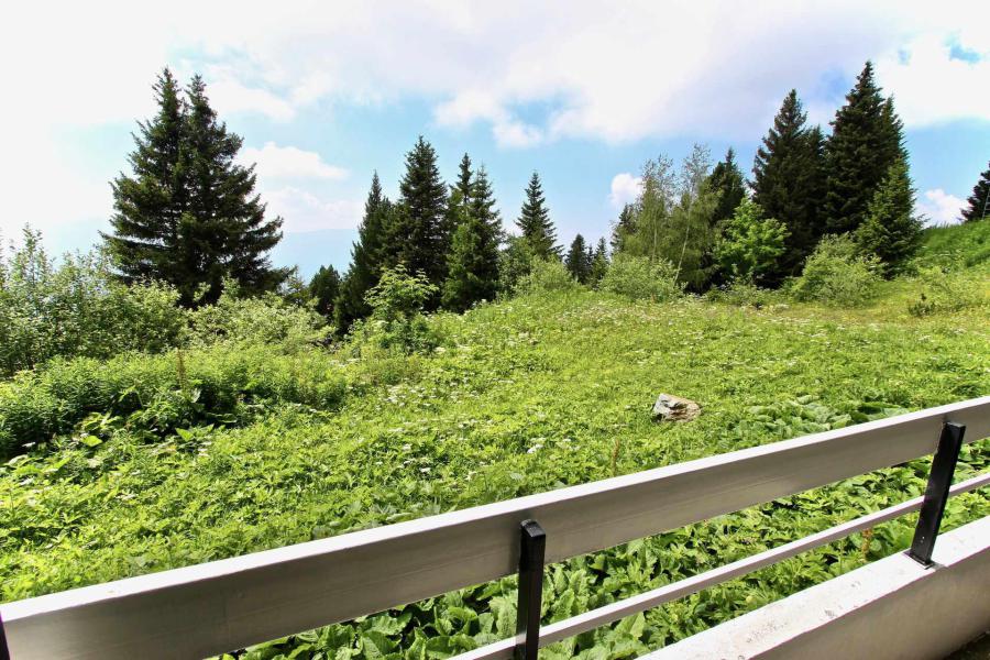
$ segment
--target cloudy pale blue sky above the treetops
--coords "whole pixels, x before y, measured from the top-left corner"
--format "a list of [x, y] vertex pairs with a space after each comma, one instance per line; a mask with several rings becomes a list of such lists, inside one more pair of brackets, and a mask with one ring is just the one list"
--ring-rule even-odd
[[[744, 9], [745, 7], [745, 9]], [[395, 196], [422, 134], [484, 164], [507, 228], [534, 170], [564, 244], [609, 232], [647, 158], [748, 174], [796, 88], [828, 128], [864, 63], [904, 121], [917, 212], [958, 219], [990, 161], [990, 2], [18, 2], [0, 25], [0, 235], [52, 253], [109, 229], [164, 66], [200, 73], [244, 139], [277, 265], [345, 268], [372, 173]]]

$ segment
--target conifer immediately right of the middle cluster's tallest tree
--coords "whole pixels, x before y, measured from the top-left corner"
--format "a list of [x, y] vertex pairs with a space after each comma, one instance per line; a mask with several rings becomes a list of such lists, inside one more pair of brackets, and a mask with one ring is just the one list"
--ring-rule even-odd
[[493, 300], [498, 289], [498, 244], [502, 219], [495, 195], [482, 166], [471, 185], [470, 210], [451, 239], [448, 275], [442, 302], [448, 309], [464, 311], [480, 300]]

